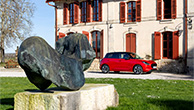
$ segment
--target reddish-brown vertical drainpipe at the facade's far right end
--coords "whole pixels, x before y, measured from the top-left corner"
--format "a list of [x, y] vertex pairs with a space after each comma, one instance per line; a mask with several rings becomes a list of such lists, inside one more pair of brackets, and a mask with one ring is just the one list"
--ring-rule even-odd
[[185, 36], [185, 67], [187, 67], [188, 29], [187, 29], [187, 0], [184, 0], [184, 36]]

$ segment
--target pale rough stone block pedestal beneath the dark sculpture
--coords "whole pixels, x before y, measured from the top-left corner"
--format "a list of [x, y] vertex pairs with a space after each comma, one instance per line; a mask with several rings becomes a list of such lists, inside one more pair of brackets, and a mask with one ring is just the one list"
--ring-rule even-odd
[[78, 91], [51, 88], [14, 96], [14, 110], [105, 110], [119, 104], [119, 95], [110, 84], [85, 84]]

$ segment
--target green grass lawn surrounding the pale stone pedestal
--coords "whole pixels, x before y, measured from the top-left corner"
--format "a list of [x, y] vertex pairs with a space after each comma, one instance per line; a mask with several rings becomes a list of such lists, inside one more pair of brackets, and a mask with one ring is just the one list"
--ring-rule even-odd
[[[108, 110], [193, 110], [194, 83], [180, 80], [86, 79], [114, 84], [119, 106]], [[52, 87], [54, 85], [51, 85]], [[0, 78], [0, 110], [12, 110], [14, 94], [37, 89], [27, 78]]]

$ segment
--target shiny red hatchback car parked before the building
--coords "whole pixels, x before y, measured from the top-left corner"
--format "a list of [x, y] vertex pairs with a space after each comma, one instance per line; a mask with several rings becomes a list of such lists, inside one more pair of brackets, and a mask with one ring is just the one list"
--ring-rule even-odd
[[136, 74], [141, 74], [143, 72], [151, 73], [156, 70], [157, 64], [152, 60], [143, 60], [132, 52], [112, 52], [107, 53], [100, 61], [100, 69], [103, 73], [133, 71]]

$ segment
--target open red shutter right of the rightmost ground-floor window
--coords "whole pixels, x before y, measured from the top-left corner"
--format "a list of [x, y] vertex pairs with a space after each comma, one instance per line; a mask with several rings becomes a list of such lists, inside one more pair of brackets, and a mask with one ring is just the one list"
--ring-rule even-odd
[[178, 35], [178, 31], [173, 32], [173, 53], [172, 53], [172, 58], [173, 59], [178, 59], [179, 58], [179, 35]]

